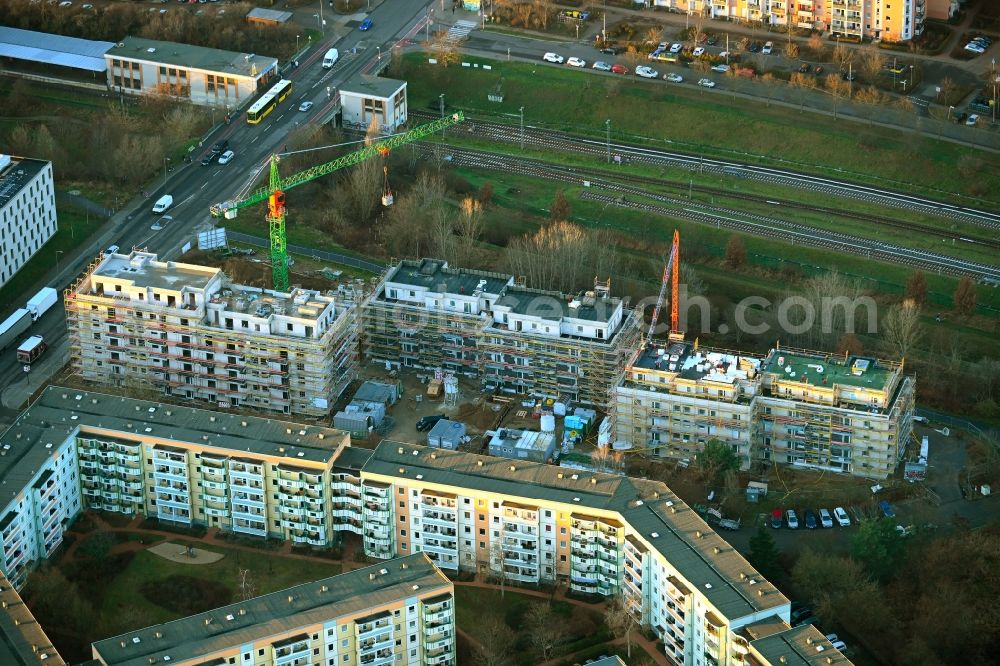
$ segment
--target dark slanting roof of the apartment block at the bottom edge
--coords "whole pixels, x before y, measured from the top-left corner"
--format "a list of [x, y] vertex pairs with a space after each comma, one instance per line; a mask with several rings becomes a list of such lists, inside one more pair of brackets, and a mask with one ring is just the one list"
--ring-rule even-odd
[[414, 553], [130, 631], [97, 641], [93, 648], [108, 666], [149, 666], [167, 657], [180, 662], [452, 589], [427, 555]]

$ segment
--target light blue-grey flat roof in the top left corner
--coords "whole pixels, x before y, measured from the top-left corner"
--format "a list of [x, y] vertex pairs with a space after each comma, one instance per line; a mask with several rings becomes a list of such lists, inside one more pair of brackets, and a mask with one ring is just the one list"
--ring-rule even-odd
[[0, 57], [30, 60], [87, 72], [106, 71], [108, 65], [104, 60], [104, 54], [114, 45], [114, 42], [0, 27]]

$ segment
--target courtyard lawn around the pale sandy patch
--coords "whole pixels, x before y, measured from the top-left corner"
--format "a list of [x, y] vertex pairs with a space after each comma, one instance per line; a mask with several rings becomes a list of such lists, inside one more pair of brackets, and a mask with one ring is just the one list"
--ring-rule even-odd
[[[171, 540], [171, 543], [183, 544], [182, 539]], [[198, 543], [192, 544], [202, 548]], [[178, 546], [178, 549], [180, 546]], [[213, 552], [223, 553], [224, 558], [212, 564], [193, 565], [171, 562], [147, 551], [136, 553], [128, 568], [119, 573], [104, 592], [100, 607], [102, 617], [123, 617], [131, 615], [123, 613], [125, 609], [138, 608], [148, 614], [152, 622], [166, 622], [175, 619], [177, 614], [148, 601], [139, 591], [147, 581], [156, 581], [168, 576], [191, 576], [206, 581], [221, 583], [233, 591], [234, 595], [239, 585], [240, 569], [249, 569], [254, 582], [255, 594], [267, 594], [293, 585], [305, 583], [340, 573], [339, 563], [320, 564], [304, 560], [296, 560], [266, 551], [255, 553], [241, 552], [212, 546], [205, 548]], [[135, 627], [121, 627], [120, 631], [128, 631]]]

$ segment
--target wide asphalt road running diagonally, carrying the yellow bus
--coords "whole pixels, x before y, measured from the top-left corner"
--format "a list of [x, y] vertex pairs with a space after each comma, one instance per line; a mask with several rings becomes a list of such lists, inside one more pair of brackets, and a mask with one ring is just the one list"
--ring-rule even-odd
[[[285, 78], [293, 82], [293, 92], [288, 99], [259, 125], [247, 124], [245, 113], [235, 114], [231, 124], [223, 125], [191, 154], [190, 164], [175, 165], [167, 172], [165, 180], [161, 176], [147, 185], [148, 196], [133, 201], [115, 215], [109, 230], [89, 239], [72, 255], [63, 256], [61, 270], [50, 281], [50, 286], [59, 290], [68, 286], [112, 244], [123, 251], [132, 247], [145, 248], [164, 259], [176, 257], [184, 244], [192, 242], [196, 230], [211, 226], [212, 217], [208, 211], [212, 204], [233, 198], [251, 183], [257, 184], [255, 178], [260, 167], [272, 153], [284, 149], [290, 131], [326, 119], [339, 103], [335, 91], [344, 81], [358, 73], [373, 71], [379, 64], [380, 55], [388, 58], [393, 44], [414, 34], [418, 28], [422, 29], [426, 7], [411, 0], [384, 0], [373, 7], [370, 14], [373, 27], [366, 32], [357, 29], [357, 21], [333, 25], [334, 20], [328, 20], [327, 38], [302, 56], [297, 68], [285, 72]], [[332, 69], [323, 69], [323, 55], [331, 46], [340, 51], [340, 60]], [[314, 103], [312, 109], [299, 112], [299, 104], [307, 100]], [[202, 157], [211, 150], [213, 143], [221, 140], [229, 142], [236, 154], [234, 159], [226, 165], [201, 166]], [[158, 217], [152, 212], [153, 203], [163, 194], [174, 198], [174, 205], [167, 211], [173, 221], [162, 230], [153, 231], [150, 227]], [[26, 294], [24, 299], [29, 296]], [[0, 313], [0, 321], [9, 314]], [[26, 331], [24, 337], [29, 335], [43, 336], [49, 350], [35, 364], [34, 373], [28, 378], [17, 363], [13, 349], [0, 355], [0, 427], [13, 420], [21, 399], [43, 380], [38, 375], [47, 377], [55, 372], [68, 355], [61, 302]]]

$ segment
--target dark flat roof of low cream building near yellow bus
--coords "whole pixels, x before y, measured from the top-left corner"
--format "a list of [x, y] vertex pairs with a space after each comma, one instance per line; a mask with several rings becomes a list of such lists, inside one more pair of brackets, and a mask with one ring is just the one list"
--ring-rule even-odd
[[[278, 60], [268, 56], [210, 49], [178, 42], [162, 42], [143, 37], [126, 37], [120, 44], [121, 46], [113, 45], [105, 57], [142, 60], [254, 79], [261, 78], [278, 66]], [[251, 55], [252, 58], [249, 57]]]

